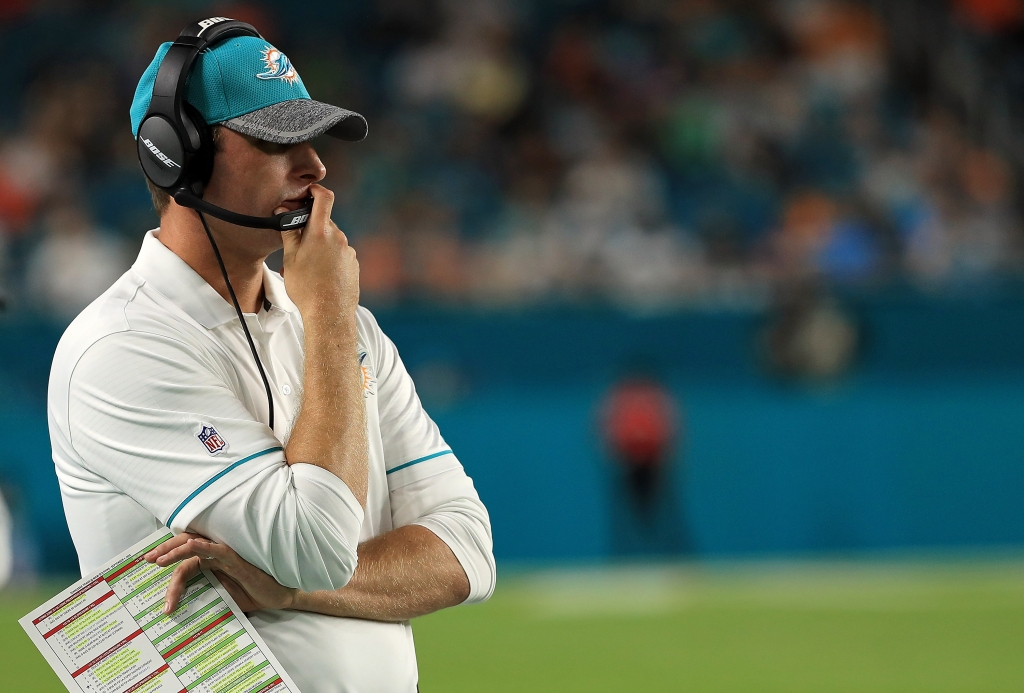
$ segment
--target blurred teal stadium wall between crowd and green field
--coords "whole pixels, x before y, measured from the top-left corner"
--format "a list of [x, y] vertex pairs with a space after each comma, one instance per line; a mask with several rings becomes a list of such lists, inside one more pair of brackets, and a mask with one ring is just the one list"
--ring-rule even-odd
[[[638, 363], [662, 375], [684, 413], [670, 517], [682, 551], [1024, 544], [1024, 297], [846, 306], [861, 326], [860, 355], [847, 376], [817, 383], [765, 370], [759, 310], [378, 318], [475, 479], [500, 559], [614, 550], [618, 489], [597, 412]], [[0, 483], [23, 550], [34, 548], [27, 560], [74, 569], [43, 401], [60, 329], [11, 317], [0, 330]]]

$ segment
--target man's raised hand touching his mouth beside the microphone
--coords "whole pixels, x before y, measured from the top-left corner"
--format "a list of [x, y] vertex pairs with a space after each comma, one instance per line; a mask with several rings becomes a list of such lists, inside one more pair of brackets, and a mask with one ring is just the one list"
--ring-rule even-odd
[[[285, 288], [305, 321], [333, 323], [351, 316], [359, 303], [359, 263], [348, 239], [331, 221], [334, 192], [309, 186], [313, 209], [304, 228], [281, 234]], [[274, 210], [287, 211], [281, 207]]]

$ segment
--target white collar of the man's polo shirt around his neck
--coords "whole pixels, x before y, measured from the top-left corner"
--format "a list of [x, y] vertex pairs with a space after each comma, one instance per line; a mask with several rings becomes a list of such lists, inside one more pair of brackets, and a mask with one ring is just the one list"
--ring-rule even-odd
[[[142, 249], [132, 269], [207, 330], [213, 330], [238, 318], [234, 307], [184, 260], [160, 243], [154, 231], [148, 231], [142, 239]], [[271, 313], [276, 310], [286, 313], [296, 310], [295, 304], [285, 293], [284, 280], [265, 264], [263, 292], [273, 306]]]

